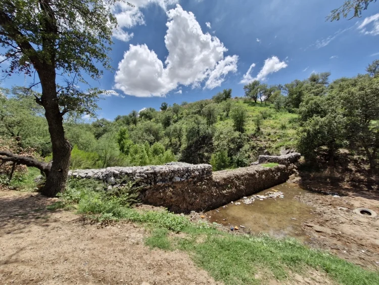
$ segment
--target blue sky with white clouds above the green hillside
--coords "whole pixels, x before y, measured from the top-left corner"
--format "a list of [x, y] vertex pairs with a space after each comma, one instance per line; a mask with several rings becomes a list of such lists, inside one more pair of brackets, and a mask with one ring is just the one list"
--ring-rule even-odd
[[[99, 102], [99, 117], [211, 98], [225, 88], [243, 96], [253, 79], [285, 84], [311, 72], [354, 76], [379, 58], [377, 3], [361, 18], [325, 22], [343, 0], [130, 2], [136, 7], [114, 8], [115, 70], [92, 83], [113, 90]], [[24, 84], [21, 74], [2, 86]]]

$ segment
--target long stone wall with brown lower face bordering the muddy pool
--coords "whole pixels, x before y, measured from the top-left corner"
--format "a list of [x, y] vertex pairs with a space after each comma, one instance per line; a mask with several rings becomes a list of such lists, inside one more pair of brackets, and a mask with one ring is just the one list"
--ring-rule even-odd
[[69, 175], [102, 180], [108, 189], [122, 187], [133, 180], [140, 186], [141, 202], [163, 206], [176, 213], [188, 213], [215, 209], [286, 182], [293, 171], [293, 165], [273, 168], [258, 165], [212, 174], [210, 165], [171, 162], [164, 166], [75, 170]]

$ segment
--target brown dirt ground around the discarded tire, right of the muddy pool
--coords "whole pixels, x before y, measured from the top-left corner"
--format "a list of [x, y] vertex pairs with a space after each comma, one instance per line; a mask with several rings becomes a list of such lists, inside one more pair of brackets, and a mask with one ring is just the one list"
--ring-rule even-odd
[[[312, 193], [298, 196], [315, 208], [303, 224], [310, 245], [370, 269], [379, 269], [379, 190], [364, 184], [303, 180]], [[314, 192], [313, 192], [314, 191]], [[334, 195], [338, 195], [335, 197]], [[369, 208], [378, 216], [360, 216], [356, 208]]]

